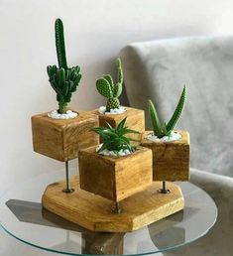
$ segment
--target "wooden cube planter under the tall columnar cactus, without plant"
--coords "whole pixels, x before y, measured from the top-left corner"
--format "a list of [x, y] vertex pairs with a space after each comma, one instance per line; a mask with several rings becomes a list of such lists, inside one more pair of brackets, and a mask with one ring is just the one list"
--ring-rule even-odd
[[98, 116], [79, 111], [73, 119], [52, 119], [48, 113], [32, 117], [34, 151], [65, 162], [77, 158], [80, 149], [99, 144], [91, 128], [99, 125]]

